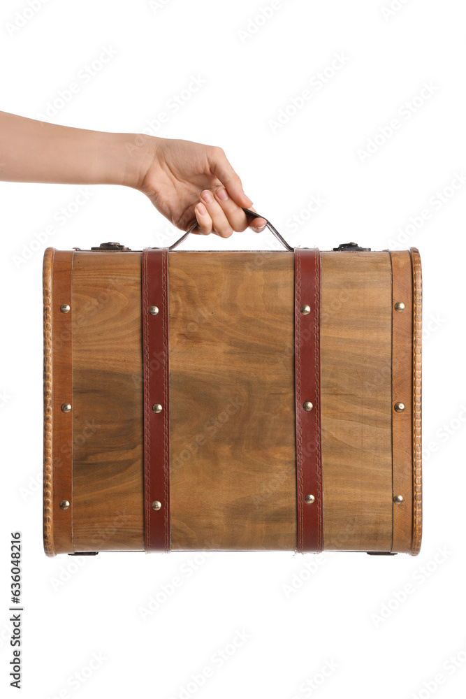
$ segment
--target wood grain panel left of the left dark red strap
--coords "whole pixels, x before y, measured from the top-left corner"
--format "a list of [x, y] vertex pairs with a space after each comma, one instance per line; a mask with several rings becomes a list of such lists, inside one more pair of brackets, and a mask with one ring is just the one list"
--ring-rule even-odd
[[76, 552], [142, 550], [140, 253], [77, 252], [73, 269]]

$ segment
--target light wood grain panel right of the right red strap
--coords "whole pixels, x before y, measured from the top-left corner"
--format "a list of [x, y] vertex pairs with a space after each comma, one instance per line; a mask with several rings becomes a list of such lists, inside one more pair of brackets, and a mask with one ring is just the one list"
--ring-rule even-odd
[[324, 548], [390, 551], [388, 252], [323, 252], [321, 309]]

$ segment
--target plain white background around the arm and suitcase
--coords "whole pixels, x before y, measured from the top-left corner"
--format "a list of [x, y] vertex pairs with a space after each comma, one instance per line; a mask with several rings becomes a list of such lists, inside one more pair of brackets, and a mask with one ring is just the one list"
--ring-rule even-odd
[[[261, 8], [271, 0], [165, 0], [153, 7], [145, 0], [48, 0], [32, 17], [27, 0], [1, 3], [1, 109], [37, 117], [111, 48], [115, 56], [92, 79], [78, 80], [80, 91], [51, 121], [140, 132], [168, 110], [156, 133], [224, 147], [256, 209], [291, 244], [414, 245], [424, 284], [418, 557], [48, 559], [41, 493], [43, 250], [104, 240], [140, 250], [180, 233], [143, 194], [91, 187], [89, 201], [25, 259], [36, 234], [56, 224], [56, 212], [73, 203], [78, 187], [1, 183], [2, 686], [11, 657], [10, 531], [19, 529], [24, 697], [464, 695], [465, 17], [458, 0], [393, 1], [389, 14], [390, 1], [275, 1], [266, 20]], [[330, 67], [335, 55], [345, 57], [340, 70]], [[330, 76], [325, 85], [315, 77], [322, 71]], [[171, 111], [170, 100], [193, 75], [205, 84]], [[311, 98], [292, 114], [293, 99], [299, 103], [305, 89]], [[289, 113], [288, 122], [273, 128], [279, 110]], [[400, 127], [390, 134], [386, 127], [395, 118]], [[376, 136], [372, 154], [361, 154]], [[311, 213], [313, 196], [325, 203]], [[300, 223], [291, 226], [293, 216]], [[250, 231], [184, 243], [270, 245], [267, 232]], [[170, 594], [174, 577], [181, 582]], [[151, 596], [161, 603], [144, 620], [140, 608]], [[238, 632], [247, 638], [240, 642]], [[236, 649], [228, 646], [235, 639]], [[235, 652], [220, 663], [217, 649], [225, 647]], [[101, 660], [89, 670], [93, 654]], [[206, 667], [212, 677], [196, 689], [191, 676]]]

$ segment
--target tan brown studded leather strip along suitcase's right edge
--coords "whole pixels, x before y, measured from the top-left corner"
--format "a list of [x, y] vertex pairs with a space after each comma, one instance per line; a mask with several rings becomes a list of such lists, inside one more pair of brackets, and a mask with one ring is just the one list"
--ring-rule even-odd
[[[390, 252], [392, 268], [392, 552], [411, 551], [413, 282], [411, 255]], [[400, 411], [400, 403], [404, 406]], [[395, 405], [397, 409], [395, 409]], [[400, 496], [402, 500], [400, 501]]]

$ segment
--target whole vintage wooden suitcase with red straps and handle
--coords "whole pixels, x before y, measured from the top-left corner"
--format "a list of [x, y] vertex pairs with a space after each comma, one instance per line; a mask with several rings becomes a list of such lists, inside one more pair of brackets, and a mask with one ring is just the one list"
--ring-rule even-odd
[[354, 243], [45, 251], [44, 542], [421, 545], [421, 263]]

